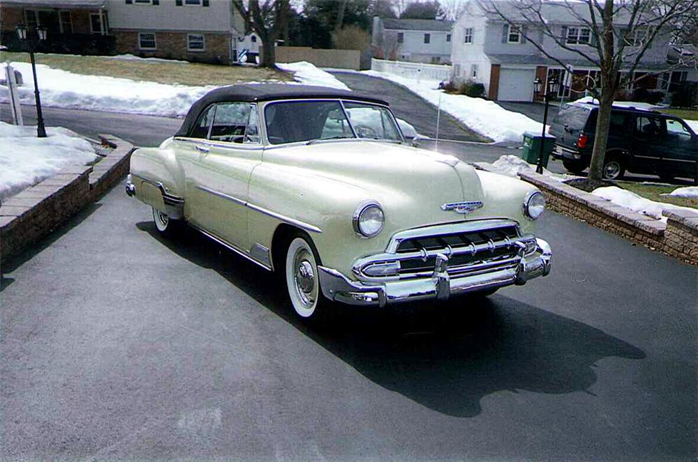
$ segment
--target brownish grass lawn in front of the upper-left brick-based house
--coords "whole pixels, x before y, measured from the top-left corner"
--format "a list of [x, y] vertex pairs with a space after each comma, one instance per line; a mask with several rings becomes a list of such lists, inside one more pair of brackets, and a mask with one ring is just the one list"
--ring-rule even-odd
[[[29, 62], [27, 53], [0, 52], [0, 61]], [[235, 82], [262, 80], [292, 80], [288, 72], [249, 66], [216, 66], [198, 63], [168, 63], [110, 59], [105, 56], [75, 56], [68, 54], [36, 54], [36, 63], [55, 69], [84, 75], [108, 75], [133, 80], [184, 85], [229, 85]]]

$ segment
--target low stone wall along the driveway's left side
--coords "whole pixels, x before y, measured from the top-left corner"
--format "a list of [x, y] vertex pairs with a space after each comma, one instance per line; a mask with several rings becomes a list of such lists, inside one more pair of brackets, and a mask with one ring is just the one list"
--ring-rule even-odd
[[64, 224], [128, 173], [133, 145], [109, 134], [100, 136], [113, 150], [94, 166], [62, 169], [2, 203], [0, 263]]

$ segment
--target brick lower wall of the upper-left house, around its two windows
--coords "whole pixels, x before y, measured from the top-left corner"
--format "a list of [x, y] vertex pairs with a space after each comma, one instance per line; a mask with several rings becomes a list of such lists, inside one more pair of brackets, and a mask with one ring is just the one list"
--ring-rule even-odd
[[113, 30], [117, 38], [117, 54], [131, 53], [138, 56], [165, 59], [183, 59], [202, 63], [230, 63], [230, 34], [205, 33], [206, 49], [203, 52], [188, 52], [186, 32], [156, 31], [156, 50], [138, 48], [138, 31]]

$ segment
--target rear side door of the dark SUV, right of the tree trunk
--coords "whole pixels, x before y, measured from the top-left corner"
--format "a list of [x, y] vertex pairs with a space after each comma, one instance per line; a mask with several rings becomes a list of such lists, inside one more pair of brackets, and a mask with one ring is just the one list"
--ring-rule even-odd
[[632, 161], [628, 170], [639, 174], [654, 174], [660, 166], [664, 151], [666, 128], [661, 116], [637, 114], [632, 128]]

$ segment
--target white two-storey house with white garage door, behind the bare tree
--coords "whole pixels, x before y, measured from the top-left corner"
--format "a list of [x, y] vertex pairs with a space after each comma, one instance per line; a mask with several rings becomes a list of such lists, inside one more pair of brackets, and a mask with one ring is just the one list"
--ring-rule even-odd
[[[494, 3], [514, 24], [493, 13], [493, 8], [488, 7], [490, 3]], [[544, 2], [541, 13], [549, 29], [566, 47], [588, 50], [588, 54], [593, 56], [595, 38], [588, 23], [579, 19], [588, 15], [586, 3]], [[540, 99], [533, 93], [536, 78], [546, 83], [549, 79], [558, 79], [561, 82], [558, 91], [560, 99], [573, 100], [584, 96], [584, 82], [595, 79], [598, 69], [576, 52], [560, 47], [556, 40], [544, 33], [540, 25], [531, 24], [523, 18], [521, 24], [517, 25], [517, 17], [521, 17], [521, 13], [514, 1], [491, 0], [483, 5], [480, 1], [468, 0], [452, 33], [454, 80], [482, 83], [489, 98], [500, 101]], [[623, 24], [628, 24], [623, 15], [618, 15], [614, 22], [620, 29]], [[638, 45], [644, 38], [641, 33], [638, 31], [636, 37], [631, 38]], [[526, 37], [535, 40], [569, 68], [565, 70], [557, 61], [547, 58]], [[669, 43], [668, 34], [655, 38], [634, 71], [637, 82], [633, 88], [628, 88], [629, 94], [632, 95], [638, 88], [666, 93], [676, 79], [685, 77], [685, 72], [661, 72], [669, 67]], [[632, 53], [637, 48], [631, 43], [626, 49]]]

